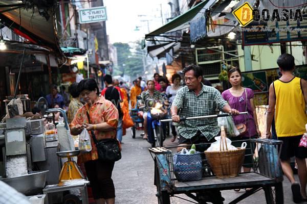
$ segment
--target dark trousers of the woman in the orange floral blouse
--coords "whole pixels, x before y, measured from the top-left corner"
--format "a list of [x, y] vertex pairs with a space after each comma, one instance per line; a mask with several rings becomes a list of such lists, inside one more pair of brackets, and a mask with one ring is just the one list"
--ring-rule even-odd
[[91, 182], [94, 199], [115, 198], [115, 188], [111, 178], [114, 163], [94, 160], [84, 164], [86, 175]]

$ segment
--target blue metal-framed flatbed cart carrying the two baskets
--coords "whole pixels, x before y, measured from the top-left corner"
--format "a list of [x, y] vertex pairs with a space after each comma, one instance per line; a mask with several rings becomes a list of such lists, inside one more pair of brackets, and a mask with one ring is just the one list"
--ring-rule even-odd
[[[235, 177], [217, 179], [210, 170], [204, 151], [201, 151], [203, 155], [203, 178], [200, 181], [190, 182], [180, 182], [176, 179], [174, 174], [173, 152], [171, 149], [178, 146], [149, 148], [150, 155], [155, 162], [154, 184], [157, 187], [156, 196], [158, 198], [158, 203], [169, 204], [171, 196], [187, 200], [186, 198], [178, 196], [178, 194], [185, 194], [193, 199], [193, 201], [188, 200], [192, 203], [203, 204], [212, 202], [214, 204], [220, 204], [224, 201], [221, 195], [222, 190], [251, 188], [251, 190], [246, 191], [244, 194], [240, 194], [240, 196], [229, 203], [237, 203], [257, 191], [264, 190], [267, 203], [282, 204], [283, 176], [278, 159], [282, 141], [272, 139], [250, 139], [241, 141], [250, 142], [251, 148], [246, 149], [246, 151], [251, 152], [249, 156], [254, 156], [252, 148], [256, 149], [258, 152], [258, 159], [253, 161], [253, 169], [251, 172], [239, 173], [238, 176]], [[206, 145], [208, 147], [210, 143], [196, 144], [196, 150], [200, 150]]]

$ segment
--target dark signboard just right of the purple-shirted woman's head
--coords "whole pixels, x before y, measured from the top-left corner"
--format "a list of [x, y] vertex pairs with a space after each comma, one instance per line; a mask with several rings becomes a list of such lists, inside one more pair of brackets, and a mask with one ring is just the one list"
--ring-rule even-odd
[[266, 71], [242, 73], [242, 78], [243, 86], [252, 89], [254, 93], [268, 92]]

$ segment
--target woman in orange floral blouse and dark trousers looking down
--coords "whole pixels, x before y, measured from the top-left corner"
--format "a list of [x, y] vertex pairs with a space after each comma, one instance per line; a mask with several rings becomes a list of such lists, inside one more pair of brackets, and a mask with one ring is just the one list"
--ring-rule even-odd
[[[99, 90], [94, 79], [82, 80], [78, 89], [86, 104], [78, 110], [70, 123], [72, 135], [79, 135], [85, 128], [94, 130], [97, 140], [114, 138], [118, 123], [118, 111], [111, 101], [99, 97]], [[91, 124], [86, 112], [90, 115]], [[78, 164], [84, 163], [86, 175], [91, 182], [96, 203], [115, 203], [115, 188], [112, 180], [114, 162], [98, 160], [98, 152], [91, 135], [92, 151], [78, 156]]]

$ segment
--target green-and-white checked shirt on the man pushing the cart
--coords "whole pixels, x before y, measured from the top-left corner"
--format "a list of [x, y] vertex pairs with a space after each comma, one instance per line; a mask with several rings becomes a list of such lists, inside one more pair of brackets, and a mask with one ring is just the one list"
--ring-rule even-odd
[[[194, 91], [187, 86], [177, 91], [172, 106], [182, 108], [180, 117], [196, 117], [215, 115], [216, 109], [223, 110], [227, 102], [221, 93], [210, 86], [203, 85], [201, 92], [196, 96]], [[182, 121], [178, 127], [178, 133], [184, 138], [192, 138], [200, 131], [207, 140], [211, 140], [220, 132], [216, 118], [194, 119]]]

